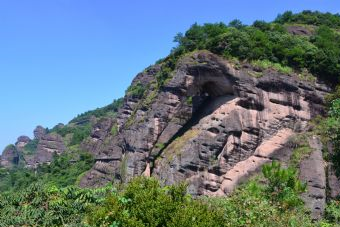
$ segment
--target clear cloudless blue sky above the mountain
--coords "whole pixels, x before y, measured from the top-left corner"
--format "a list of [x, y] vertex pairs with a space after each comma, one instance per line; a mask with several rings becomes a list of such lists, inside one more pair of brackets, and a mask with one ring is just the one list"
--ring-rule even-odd
[[246, 24], [339, 0], [0, 0], [0, 153], [36, 125], [122, 97], [194, 22]]

